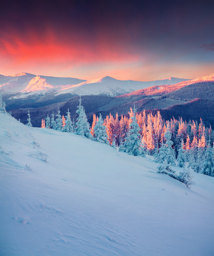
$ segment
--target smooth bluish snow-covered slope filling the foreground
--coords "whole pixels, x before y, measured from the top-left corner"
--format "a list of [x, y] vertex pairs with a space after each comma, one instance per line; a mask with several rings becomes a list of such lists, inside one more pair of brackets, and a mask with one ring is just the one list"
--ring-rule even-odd
[[150, 159], [0, 123], [1, 255], [213, 255], [213, 177], [188, 189]]

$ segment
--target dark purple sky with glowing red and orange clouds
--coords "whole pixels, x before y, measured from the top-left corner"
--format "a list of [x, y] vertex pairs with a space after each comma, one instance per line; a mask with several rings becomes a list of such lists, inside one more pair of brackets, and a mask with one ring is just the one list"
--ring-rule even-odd
[[214, 1], [0, 0], [0, 74], [151, 81], [214, 73]]

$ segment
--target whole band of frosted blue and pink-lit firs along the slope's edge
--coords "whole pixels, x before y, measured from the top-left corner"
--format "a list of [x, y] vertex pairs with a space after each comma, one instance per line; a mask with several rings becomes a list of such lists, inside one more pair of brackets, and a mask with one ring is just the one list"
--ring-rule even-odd
[[[90, 128], [81, 98], [76, 114], [76, 122], [70, 119], [69, 110], [63, 120], [58, 109], [56, 119], [54, 114], [51, 119], [47, 117], [46, 122], [43, 119], [42, 127], [74, 132], [93, 141], [117, 147], [119, 151], [133, 156], [154, 155], [160, 163], [158, 172], [179, 180], [189, 180], [189, 185], [190, 169], [214, 176], [214, 133], [211, 126], [205, 128], [202, 120], [199, 124], [193, 120], [187, 123], [182, 118], [164, 121], [160, 112], [156, 115], [146, 114], [145, 110], [143, 113], [136, 113], [134, 107], [128, 113], [129, 116], [122, 115], [120, 120], [118, 114], [115, 118], [110, 114], [104, 120], [101, 115], [98, 117], [93, 114]], [[172, 166], [179, 166], [184, 171], [178, 176]]]

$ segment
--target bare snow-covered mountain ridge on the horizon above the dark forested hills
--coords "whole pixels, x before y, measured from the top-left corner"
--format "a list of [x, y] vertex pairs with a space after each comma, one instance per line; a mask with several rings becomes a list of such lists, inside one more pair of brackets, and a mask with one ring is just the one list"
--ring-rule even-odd
[[[139, 82], [118, 80], [103, 77], [90, 81], [76, 78], [35, 76], [21, 72], [9, 77], [0, 77], [0, 89], [3, 93], [18, 93], [18, 97], [28, 97], [33, 94], [71, 93], [74, 95], [109, 95], [116, 96], [152, 85], [175, 84], [187, 79], [169, 77], [157, 81]], [[29, 94], [26, 94], [29, 93]]]

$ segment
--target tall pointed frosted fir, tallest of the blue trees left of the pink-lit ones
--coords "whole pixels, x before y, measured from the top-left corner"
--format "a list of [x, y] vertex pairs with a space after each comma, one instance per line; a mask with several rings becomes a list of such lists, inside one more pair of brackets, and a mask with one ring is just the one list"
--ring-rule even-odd
[[87, 138], [91, 138], [92, 136], [90, 132], [90, 125], [88, 123], [85, 110], [81, 105], [81, 103], [82, 103], [82, 100], [80, 96], [79, 105], [76, 110], [76, 113], [78, 114], [78, 118], [76, 121], [76, 134], [86, 136]]

